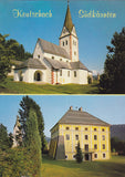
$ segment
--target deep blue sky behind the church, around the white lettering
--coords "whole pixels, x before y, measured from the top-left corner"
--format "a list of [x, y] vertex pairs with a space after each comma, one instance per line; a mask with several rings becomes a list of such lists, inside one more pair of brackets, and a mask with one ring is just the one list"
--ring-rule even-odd
[[[10, 34], [24, 45], [27, 51], [33, 52], [38, 38], [59, 44], [59, 37], [63, 27], [66, 0], [1, 0], [0, 1], [0, 33]], [[116, 0], [71, 0], [72, 20], [79, 37], [80, 60], [92, 71], [101, 72], [106, 58], [106, 45], [115, 31], [125, 27], [125, 1]], [[48, 12], [52, 18], [13, 18], [12, 10], [24, 12]], [[116, 18], [80, 18], [79, 10], [91, 10], [116, 13]]]

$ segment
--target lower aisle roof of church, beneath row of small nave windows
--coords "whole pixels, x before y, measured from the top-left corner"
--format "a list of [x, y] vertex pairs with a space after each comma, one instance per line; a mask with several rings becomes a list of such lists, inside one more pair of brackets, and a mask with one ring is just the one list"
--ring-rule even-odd
[[48, 59], [45, 60], [54, 67], [54, 69], [71, 69], [71, 65], [69, 62], [62, 62], [62, 61], [56, 61], [53, 59]]

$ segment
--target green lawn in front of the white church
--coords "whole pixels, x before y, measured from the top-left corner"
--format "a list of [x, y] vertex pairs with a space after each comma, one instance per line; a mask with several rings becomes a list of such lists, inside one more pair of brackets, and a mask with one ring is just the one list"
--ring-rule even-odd
[[13, 82], [8, 77], [6, 83], [0, 84], [1, 94], [97, 94], [98, 83], [94, 81], [90, 85], [65, 84], [30, 84], [24, 82]]

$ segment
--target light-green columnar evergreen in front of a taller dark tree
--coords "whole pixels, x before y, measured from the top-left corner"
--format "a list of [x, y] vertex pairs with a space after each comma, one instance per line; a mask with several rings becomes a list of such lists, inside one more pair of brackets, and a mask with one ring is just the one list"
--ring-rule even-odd
[[34, 177], [41, 177], [41, 139], [38, 128], [38, 117], [33, 110], [29, 111], [29, 117], [27, 118], [25, 124], [24, 145], [32, 159], [32, 175]]

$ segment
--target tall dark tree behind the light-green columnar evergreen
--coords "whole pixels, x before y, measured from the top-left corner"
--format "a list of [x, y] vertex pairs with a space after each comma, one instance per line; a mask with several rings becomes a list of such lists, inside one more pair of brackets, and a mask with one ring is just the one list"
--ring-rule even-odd
[[25, 136], [25, 128], [27, 128], [27, 118], [29, 117], [29, 112], [30, 110], [34, 110], [37, 117], [38, 117], [38, 127], [39, 127], [39, 134], [41, 137], [41, 143], [42, 143], [42, 152], [44, 150], [45, 147], [45, 136], [44, 136], [44, 119], [40, 110], [40, 106], [29, 96], [24, 96], [22, 101], [20, 102], [21, 108], [19, 110], [20, 114], [20, 124], [21, 124], [21, 132], [22, 132], [22, 138]]

